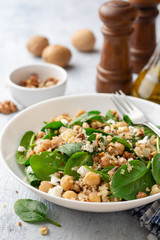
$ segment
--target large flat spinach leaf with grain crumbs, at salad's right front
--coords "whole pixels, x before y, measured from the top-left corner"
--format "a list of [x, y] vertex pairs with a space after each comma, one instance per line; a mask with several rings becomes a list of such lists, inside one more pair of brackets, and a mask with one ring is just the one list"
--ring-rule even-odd
[[138, 192], [148, 194], [146, 188], [151, 189], [155, 183], [151, 172], [143, 162], [133, 160], [129, 164], [132, 170], [128, 171], [128, 164], [120, 167], [113, 175], [111, 184], [111, 193], [125, 200], [136, 199]]

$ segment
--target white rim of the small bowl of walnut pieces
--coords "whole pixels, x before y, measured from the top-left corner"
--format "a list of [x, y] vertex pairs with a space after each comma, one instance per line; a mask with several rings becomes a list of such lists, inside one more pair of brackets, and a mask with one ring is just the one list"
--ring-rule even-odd
[[[58, 83], [58, 84], [56, 84], [56, 85], [54, 85], [54, 86], [50, 86], [50, 87], [44, 87], [44, 88], [27, 88], [27, 87], [23, 87], [23, 86], [19, 86], [18, 84], [16, 84], [16, 83], [14, 83], [12, 80], [11, 80], [11, 75], [15, 72], [15, 71], [18, 71], [18, 70], [20, 70], [20, 69], [23, 69], [24, 68], [24, 70], [25, 70], [25, 68], [29, 68], [29, 67], [37, 67], [37, 66], [43, 66], [43, 67], [50, 67], [50, 68], [53, 68], [53, 69], [56, 69], [56, 70], [58, 70], [58, 71], [60, 71], [60, 72], [62, 72], [63, 74], [64, 74], [64, 80], [63, 81], [60, 81], [60, 83]], [[58, 88], [58, 87], [60, 87], [61, 85], [63, 85], [66, 81], [67, 81], [67, 71], [64, 69], [64, 68], [62, 68], [62, 67], [60, 67], [60, 66], [58, 66], [58, 65], [56, 65], [56, 64], [51, 64], [51, 63], [38, 63], [38, 64], [28, 64], [28, 65], [23, 65], [23, 66], [20, 66], [20, 67], [18, 67], [18, 68], [15, 68], [15, 69], [13, 69], [10, 73], [9, 73], [9, 75], [8, 75], [8, 83], [12, 86], [12, 87], [14, 87], [14, 88], [17, 88], [17, 89], [19, 89], [19, 90], [22, 90], [23, 89], [23, 91], [46, 91], [47, 89], [52, 89], [52, 88]]]

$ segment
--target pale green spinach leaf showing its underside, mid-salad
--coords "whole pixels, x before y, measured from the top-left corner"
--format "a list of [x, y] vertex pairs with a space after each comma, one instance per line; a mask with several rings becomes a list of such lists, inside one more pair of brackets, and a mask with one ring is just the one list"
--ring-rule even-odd
[[82, 152], [81, 147], [83, 145], [84, 143], [66, 143], [59, 146], [56, 150], [71, 157], [76, 152]]

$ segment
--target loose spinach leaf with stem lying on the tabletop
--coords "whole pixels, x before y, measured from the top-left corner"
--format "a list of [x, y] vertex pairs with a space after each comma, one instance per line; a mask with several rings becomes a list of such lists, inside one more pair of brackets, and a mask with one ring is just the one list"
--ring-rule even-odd
[[48, 221], [57, 227], [61, 227], [59, 223], [46, 217], [48, 209], [42, 202], [31, 199], [19, 199], [14, 204], [14, 211], [24, 222]]

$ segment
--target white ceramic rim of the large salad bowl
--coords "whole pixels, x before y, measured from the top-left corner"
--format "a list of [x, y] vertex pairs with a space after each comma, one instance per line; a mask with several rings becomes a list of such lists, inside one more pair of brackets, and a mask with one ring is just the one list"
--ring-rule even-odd
[[[15, 121], [16, 118], [19, 117], [19, 115], [23, 114], [23, 112], [27, 112], [29, 111], [30, 109], [32, 108], [35, 108], [36, 106], [38, 105], [41, 105], [41, 104], [44, 104], [46, 102], [51, 102], [51, 101], [57, 101], [57, 100], [61, 100], [61, 99], [68, 99], [68, 98], [76, 98], [76, 97], [87, 97], [87, 96], [109, 96], [111, 94], [105, 94], [105, 93], [91, 93], [91, 94], [78, 94], [78, 95], [70, 95], [70, 96], [62, 96], [62, 97], [57, 97], [55, 99], [48, 99], [48, 100], [45, 100], [45, 101], [42, 101], [40, 103], [36, 103], [30, 107], [28, 107], [27, 109], [24, 109], [23, 111], [21, 111], [20, 113], [18, 113], [15, 117], [13, 117], [7, 124], [6, 126], [4, 127], [4, 129], [2, 130], [1, 132], [1, 136], [0, 136], [0, 156], [1, 156], [1, 159], [2, 159], [2, 162], [3, 164], [5, 165], [5, 167], [7, 168], [7, 170], [11, 173], [11, 175], [13, 177], [15, 177], [20, 183], [22, 183], [22, 185], [26, 186], [27, 188], [29, 188], [31, 191], [37, 193], [38, 195], [41, 195], [43, 196], [44, 199], [48, 200], [48, 194], [47, 193], [44, 193], [34, 187], [32, 187], [31, 185], [29, 185], [27, 182], [23, 181], [22, 179], [20, 179], [19, 177], [17, 177], [17, 175], [15, 173], [13, 173], [11, 171], [11, 169], [8, 167], [8, 165], [6, 164], [4, 158], [3, 158], [3, 155], [2, 155], [2, 139], [3, 139], [3, 135], [5, 134], [5, 130], [7, 129], [8, 125], [10, 125], [12, 123], [12, 121]], [[129, 98], [134, 98], [134, 97], [129, 97]], [[138, 101], [140, 102], [147, 102], [147, 104], [150, 104], [154, 107], [154, 105], [157, 105], [159, 106], [158, 104], [156, 103], [153, 103], [153, 102], [150, 102], [150, 101], [146, 101], [146, 100], [143, 100], [143, 99], [138, 99]], [[63, 207], [66, 207], [64, 206], [64, 201], [65, 202], [68, 202], [68, 206], [67, 208], [71, 208], [71, 209], [75, 209], [75, 210], [80, 210], [80, 211], [88, 211], [88, 212], [114, 212], [113, 210], [109, 210], [109, 207], [110, 206], [121, 206], [121, 208], [118, 208], [118, 210], [116, 209], [115, 212], [118, 212], [118, 211], [124, 211], [124, 210], [128, 210], [128, 209], [132, 209], [132, 208], [135, 208], [135, 207], [139, 207], [139, 206], [142, 206], [142, 205], [146, 205], [146, 204], [149, 204], [155, 200], [158, 200], [160, 199], [160, 193], [158, 194], [155, 194], [155, 195], [152, 195], [152, 196], [148, 196], [148, 197], [145, 197], [145, 198], [141, 198], [141, 199], [135, 199], [135, 200], [129, 200], [129, 201], [123, 201], [123, 202], [101, 202], [101, 203], [93, 203], [93, 202], [81, 202], [81, 201], [76, 201], [76, 200], [69, 200], [69, 199], [64, 199], [64, 198], [61, 198], [61, 197], [56, 197], [56, 196], [50, 196], [50, 199], [54, 199], [54, 202], [52, 203], [55, 203], [57, 205], [60, 205], [60, 206], [63, 206]], [[146, 201], [147, 199], [149, 199], [149, 201]], [[147, 203], [146, 203], [147, 202]], [[133, 204], [133, 206], [131, 206]], [[78, 205], [78, 207], [77, 207]], [[85, 205], [85, 209], [83, 209], [83, 206]], [[101, 206], [106, 206], [108, 207], [108, 210], [103, 210]], [[87, 209], [88, 207], [88, 209]], [[98, 210], [96, 210], [96, 207], [100, 207], [100, 210], [98, 208]], [[93, 210], [94, 209], [94, 210]]]

